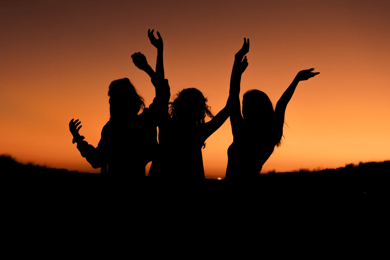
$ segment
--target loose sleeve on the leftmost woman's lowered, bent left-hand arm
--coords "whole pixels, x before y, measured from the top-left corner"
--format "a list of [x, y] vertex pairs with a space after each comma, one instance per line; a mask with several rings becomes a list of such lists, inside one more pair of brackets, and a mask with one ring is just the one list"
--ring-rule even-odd
[[103, 127], [101, 131], [101, 138], [97, 147], [88, 144], [87, 141], [81, 141], [77, 143], [77, 149], [80, 151], [81, 156], [85, 157], [87, 161], [92, 165], [92, 168], [100, 168], [103, 164], [107, 163], [106, 153], [108, 144], [108, 132], [110, 128], [110, 121]]

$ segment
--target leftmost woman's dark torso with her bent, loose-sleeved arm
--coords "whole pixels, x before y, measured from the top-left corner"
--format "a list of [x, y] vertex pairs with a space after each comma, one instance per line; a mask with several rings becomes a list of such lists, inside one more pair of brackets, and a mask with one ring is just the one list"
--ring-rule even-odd
[[93, 168], [107, 163], [110, 175], [142, 178], [157, 146], [154, 122], [149, 108], [131, 119], [111, 119], [103, 127], [96, 148], [86, 141], [79, 143], [77, 148]]

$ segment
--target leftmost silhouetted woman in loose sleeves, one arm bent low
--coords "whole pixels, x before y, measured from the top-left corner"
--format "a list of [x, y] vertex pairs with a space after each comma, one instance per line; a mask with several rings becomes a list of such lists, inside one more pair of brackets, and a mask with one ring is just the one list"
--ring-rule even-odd
[[[131, 57], [137, 67], [154, 77], [155, 73], [144, 55], [135, 53]], [[108, 90], [110, 120], [102, 129], [99, 144], [95, 148], [83, 140], [84, 136], [78, 133], [82, 127], [78, 119], [69, 122], [73, 143], [77, 143], [78, 150], [93, 168], [108, 164], [110, 174], [130, 179], [144, 177], [145, 166], [152, 161], [158, 145], [154, 107], [163, 104], [161, 95], [158, 94], [167, 92], [169, 93], [169, 89], [163, 92], [156, 90], [153, 103], [145, 108], [144, 99], [138, 95], [128, 78], [112, 81]], [[169, 97], [170, 95], [164, 99], [164, 103], [169, 101]], [[142, 108], [142, 113], [138, 115]]]

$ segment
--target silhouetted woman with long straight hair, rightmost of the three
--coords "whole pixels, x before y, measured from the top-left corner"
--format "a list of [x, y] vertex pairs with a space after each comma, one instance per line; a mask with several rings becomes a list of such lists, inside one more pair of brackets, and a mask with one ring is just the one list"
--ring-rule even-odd
[[[249, 39], [238, 51], [234, 66], [247, 63], [244, 55], [249, 51]], [[244, 57], [244, 59], [243, 59]], [[233, 67], [234, 67], [233, 66]], [[234, 70], [234, 69], [233, 69]], [[228, 163], [225, 180], [253, 180], [260, 176], [263, 164], [273, 153], [275, 146], [279, 147], [283, 135], [284, 114], [299, 81], [308, 80], [319, 74], [314, 69], [298, 72], [291, 85], [280, 97], [275, 111], [269, 97], [260, 90], [248, 90], [239, 100], [240, 84], [231, 88], [232, 108], [230, 124], [232, 126], [233, 142], [227, 150]]]

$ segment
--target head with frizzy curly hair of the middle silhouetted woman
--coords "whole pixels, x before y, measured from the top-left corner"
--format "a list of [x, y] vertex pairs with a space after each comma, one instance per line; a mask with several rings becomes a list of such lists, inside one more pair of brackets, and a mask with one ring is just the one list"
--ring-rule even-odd
[[184, 88], [169, 104], [172, 119], [183, 124], [199, 126], [205, 122], [206, 115], [214, 117], [207, 106], [207, 98], [196, 88]]

